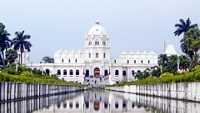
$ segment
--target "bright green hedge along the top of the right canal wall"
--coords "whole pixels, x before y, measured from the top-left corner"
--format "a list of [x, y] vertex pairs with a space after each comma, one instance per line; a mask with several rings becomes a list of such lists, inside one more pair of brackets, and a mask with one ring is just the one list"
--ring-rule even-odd
[[131, 82], [121, 82], [112, 86], [124, 86], [124, 85], [143, 85], [143, 84], [163, 84], [163, 83], [178, 83], [178, 82], [200, 82], [200, 65], [192, 69], [191, 72], [173, 75], [172, 73], [163, 73], [158, 78], [148, 77], [142, 80], [136, 80]]

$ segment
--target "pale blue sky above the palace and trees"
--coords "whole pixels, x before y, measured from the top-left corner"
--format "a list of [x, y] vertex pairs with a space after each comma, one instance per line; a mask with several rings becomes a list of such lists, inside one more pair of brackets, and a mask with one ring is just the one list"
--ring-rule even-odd
[[54, 57], [61, 50], [84, 50], [84, 35], [96, 20], [110, 38], [110, 56], [123, 51], [164, 52], [164, 42], [177, 53], [179, 19], [200, 24], [200, 0], [0, 0], [0, 22], [14, 38], [16, 31], [31, 35], [30, 62]]

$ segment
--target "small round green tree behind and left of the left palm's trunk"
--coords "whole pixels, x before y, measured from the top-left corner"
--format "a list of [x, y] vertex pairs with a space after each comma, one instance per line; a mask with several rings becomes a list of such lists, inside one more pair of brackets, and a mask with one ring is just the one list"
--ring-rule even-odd
[[17, 59], [17, 51], [14, 50], [14, 49], [9, 49], [6, 52], [7, 65], [10, 65], [10, 64], [14, 63], [16, 59]]

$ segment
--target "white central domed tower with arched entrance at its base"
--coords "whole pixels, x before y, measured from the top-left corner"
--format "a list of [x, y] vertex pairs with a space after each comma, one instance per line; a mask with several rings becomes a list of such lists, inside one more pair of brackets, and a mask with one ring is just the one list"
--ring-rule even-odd
[[85, 35], [85, 64], [86, 76], [109, 74], [109, 38], [99, 21]]

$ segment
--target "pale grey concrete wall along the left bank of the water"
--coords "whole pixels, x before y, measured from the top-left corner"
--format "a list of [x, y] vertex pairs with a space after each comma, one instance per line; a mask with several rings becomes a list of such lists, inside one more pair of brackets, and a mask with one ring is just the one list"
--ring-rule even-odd
[[0, 82], [0, 101], [27, 99], [84, 90], [83, 87]]

